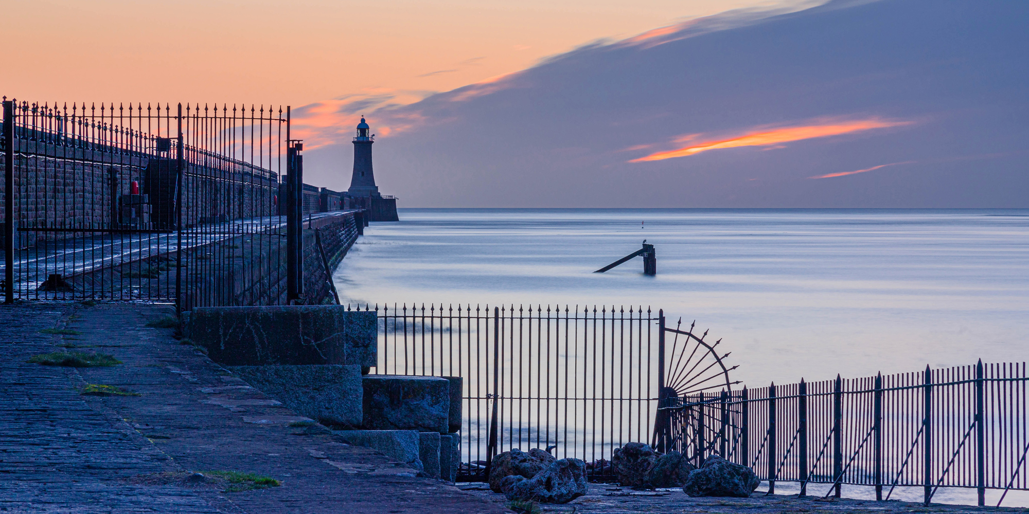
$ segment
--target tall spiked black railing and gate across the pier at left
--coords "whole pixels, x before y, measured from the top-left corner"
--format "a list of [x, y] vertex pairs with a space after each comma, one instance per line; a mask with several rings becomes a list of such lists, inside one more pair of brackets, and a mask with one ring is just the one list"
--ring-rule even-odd
[[5, 300], [306, 301], [311, 278], [287, 291], [287, 262], [307, 258], [287, 225], [336, 216], [321, 226], [356, 237], [355, 220], [340, 198], [287, 216], [287, 140], [288, 107], [4, 98]]

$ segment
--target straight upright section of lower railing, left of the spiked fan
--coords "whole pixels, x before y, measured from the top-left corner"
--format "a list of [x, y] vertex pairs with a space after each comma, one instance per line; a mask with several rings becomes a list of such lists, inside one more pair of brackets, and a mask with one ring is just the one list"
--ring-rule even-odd
[[659, 317], [640, 307], [389, 305], [377, 373], [461, 376], [460, 480], [511, 448], [551, 448], [612, 478], [611, 451], [657, 409]]

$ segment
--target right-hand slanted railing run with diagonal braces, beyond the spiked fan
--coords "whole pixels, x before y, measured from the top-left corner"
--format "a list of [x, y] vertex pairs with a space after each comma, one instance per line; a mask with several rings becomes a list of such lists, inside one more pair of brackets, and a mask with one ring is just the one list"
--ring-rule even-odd
[[[875, 488], [920, 487], [928, 504], [939, 487], [1027, 489], [1029, 453], [1025, 363], [666, 398], [662, 443], [700, 465], [717, 453], [768, 481]], [[999, 502], [998, 504], [999, 505]]]

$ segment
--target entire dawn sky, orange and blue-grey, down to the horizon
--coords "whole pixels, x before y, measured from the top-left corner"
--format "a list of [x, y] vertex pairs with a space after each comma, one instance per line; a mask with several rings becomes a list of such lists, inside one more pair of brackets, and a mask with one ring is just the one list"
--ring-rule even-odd
[[293, 107], [400, 207], [1029, 208], [1029, 2], [14, 2], [0, 91]]

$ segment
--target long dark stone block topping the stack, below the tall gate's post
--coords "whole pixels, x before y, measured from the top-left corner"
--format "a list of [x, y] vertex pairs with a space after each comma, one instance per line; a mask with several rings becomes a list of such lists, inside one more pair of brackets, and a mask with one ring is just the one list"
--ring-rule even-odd
[[341, 305], [198, 307], [189, 338], [229, 366], [376, 365], [376, 313]]

